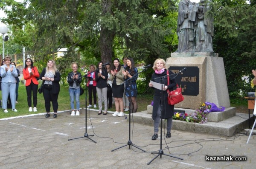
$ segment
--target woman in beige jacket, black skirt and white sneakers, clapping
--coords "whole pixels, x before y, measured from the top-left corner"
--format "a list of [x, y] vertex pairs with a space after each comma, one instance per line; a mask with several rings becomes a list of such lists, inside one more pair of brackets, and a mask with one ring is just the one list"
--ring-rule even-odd
[[[116, 111], [113, 113], [113, 116], [118, 115], [119, 117], [124, 116], [124, 113], [122, 112], [124, 110], [124, 102], [122, 100], [123, 93], [125, 90], [124, 85], [122, 84], [124, 82], [124, 74], [122, 73], [123, 70], [125, 70], [120, 65], [119, 59], [114, 59], [113, 61], [113, 69], [111, 70], [111, 76], [110, 80], [112, 80], [112, 92], [113, 92], [113, 98], [115, 100], [115, 106]], [[121, 85], [122, 84], [122, 85]]]

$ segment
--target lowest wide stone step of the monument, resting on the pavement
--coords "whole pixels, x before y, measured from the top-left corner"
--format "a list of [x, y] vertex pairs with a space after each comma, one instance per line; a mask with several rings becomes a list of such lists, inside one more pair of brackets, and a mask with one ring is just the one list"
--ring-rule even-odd
[[[135, 123], [152, 126], [153, 119], [151, 114], [146, 111], [133, 113], [131, 120]], [[129, 120], [129, 115], [127, 115]], [[163, 121], [163, 127], [166, 123]], [[172, 130], [182, 130], [187, 132], [205, 133], [210, 135], [222, 135], [231, 137], [237, 132], [244, 130], [248, 126], [248, 115], [244, 113], [236, 113], [235, 116], [219, 122], [207, 121], [205, 124], [192, 123], [180, 120], [173, 120]]]

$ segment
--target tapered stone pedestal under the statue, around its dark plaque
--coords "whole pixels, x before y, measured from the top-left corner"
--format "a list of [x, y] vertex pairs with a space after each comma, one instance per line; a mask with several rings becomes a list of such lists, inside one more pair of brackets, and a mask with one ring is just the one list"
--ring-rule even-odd
[[[184, 54], [186, 54], [185, 57]], [[212, 57], [218, 56], [218, 54], [208, 52], [173, 53], [171, 56], [166, 60], [166, 68], [170, 67], [172, 69], [172, 67], [180, 66], [186, 67], [186, 71], [189, 71], [189, 67], [197, 67], [199, 69], [198, 77], [195, 77], [199, 89], [197, 96], [183, 94], [184, 101], [176, 104], [175, 107], [195, 110], [199, 107], [200, 102], [206, 101], [215, 103], [217, 106], [230, 107], [223, 58]], [[183, 73], [180, 73], [176, 79], [182, 79], [182, 77]], [[183, 87], [183, 90], [186, 90], [182, 81], [178, 85]]]

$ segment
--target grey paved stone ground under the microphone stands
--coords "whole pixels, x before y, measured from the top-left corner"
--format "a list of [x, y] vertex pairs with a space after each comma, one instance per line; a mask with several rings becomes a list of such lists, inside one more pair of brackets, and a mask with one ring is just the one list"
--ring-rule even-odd
[[[131, 118], [132, 121], [132, 118]], [[253, 169], [256, 136], [246, 144], [248, 134], [234, 137], [205, 135], [172, 130], [172, 138], [162, 141], [165, 155], [157, 157], [160, 138], [152, 141], [153, 127], [131, 122], [131, 140], [138, 146], [129, 149], [129, 123], [124, 117], [97, 115], [85, 110], [80, 116], [58, 113], [0, 120], [0, 169]], [[164, 130], [163, 130], [164, 131]], [[160, 133], [159, 133], [160, 134]], [[82, 137], [82, 138], [79, 138]], [[69, 140], [78, 138], [74, 140]], [[116, 149], [124, 146], [120, 149]], [[169, 147], [169, 149], [167, 148]], [[115, 151], [111, 151], [116, 149]], [[170, 154], [171, 153], [171, 154]], [[172, 155], [183, 160], [169, 157]], [[206, 161], [209, 156], [244, 156], [247, 161]]]

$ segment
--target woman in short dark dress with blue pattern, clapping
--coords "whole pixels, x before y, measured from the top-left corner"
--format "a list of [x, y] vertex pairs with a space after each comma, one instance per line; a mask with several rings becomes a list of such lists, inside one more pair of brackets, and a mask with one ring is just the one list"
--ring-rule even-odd
[[[125, 81], [128, 81], [132, 76], [138, 73], [138, 69], [135, 67], [134, 60], [132, 58], [126, 59], [127, 67], [122, 73], [125, 75]], [[137, 81], [138, 75], [135, 75], [129, 82], [125, 83], [125, 95], [131, 102], [131, 113], [137, 112]], [[131, 85], [131, 86], [130, 86]], [[130, 94], [131, 93], [131, 94]], [[130, 100], [131, 99], [131, 100]]]

